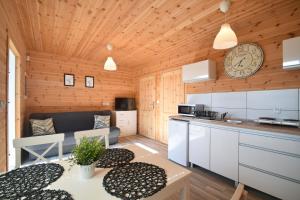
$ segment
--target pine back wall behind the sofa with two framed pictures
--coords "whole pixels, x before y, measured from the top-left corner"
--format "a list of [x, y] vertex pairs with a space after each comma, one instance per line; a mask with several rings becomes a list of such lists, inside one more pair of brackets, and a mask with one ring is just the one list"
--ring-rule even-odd
[[[74, 87], [64, 86], [64, 73], [75, 75]], [[31, 51], [27, 74], [28, 114], [113, 109], [115, 97], [135, 96], [132, 75], [122, 66], [108, 72], [103, 63]], [[94, 76], [94, 88], [85, 87], [85, 76]]]

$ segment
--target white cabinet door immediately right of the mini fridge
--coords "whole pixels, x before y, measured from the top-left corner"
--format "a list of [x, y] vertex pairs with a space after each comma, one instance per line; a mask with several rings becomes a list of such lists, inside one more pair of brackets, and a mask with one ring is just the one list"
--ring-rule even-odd
[[189, 161], [205, 169], [210, 169], [210, 128], [189, 126]]

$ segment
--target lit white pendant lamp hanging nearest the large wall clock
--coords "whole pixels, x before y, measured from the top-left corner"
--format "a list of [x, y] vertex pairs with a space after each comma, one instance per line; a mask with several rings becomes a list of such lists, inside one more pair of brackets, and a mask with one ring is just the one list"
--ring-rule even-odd
[[226, 12], [229, 10], [230, 0], [222, 0], [220, 3], [220, 11], [225, 14], [225, 23], [222, 24], [219, 33], [217, 34], [213, 48], [214, 49], [229, 49], [237, 45], [238, 40], [231, 29], [230, 24], [226, 23]]

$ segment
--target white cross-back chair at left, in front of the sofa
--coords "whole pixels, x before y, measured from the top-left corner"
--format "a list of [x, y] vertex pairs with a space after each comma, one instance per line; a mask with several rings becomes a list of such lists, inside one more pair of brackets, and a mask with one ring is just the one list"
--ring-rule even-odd
[[[53, 134], [53, 135], [43, 135], [43, 136], [34, 136], [14, 139], [13, 145], [16, 151], [16, 168], [21, 166], [21, 149], [29, 152], [30, 154], [37, 157], [33, 164], [36, 164], [38, 161], [43, 160], [49, 162], [44, 156], [56, 145], [58, 144], [58, 158], [62, 159], [63, 147], [62, 143], [64, 141], [65, 134]], [[51, 144], [42, 154], [38, 154], [35, 151], [27, 148], [29, 146], [40, 145], [40, 144]]]

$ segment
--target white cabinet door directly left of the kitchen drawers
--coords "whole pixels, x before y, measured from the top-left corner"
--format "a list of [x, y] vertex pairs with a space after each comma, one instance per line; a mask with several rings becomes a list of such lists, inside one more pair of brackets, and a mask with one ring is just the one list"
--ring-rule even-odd
[[210, 170], [238, 181], [237, 131], [211, 128]]

